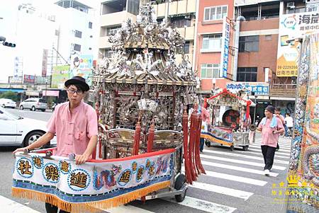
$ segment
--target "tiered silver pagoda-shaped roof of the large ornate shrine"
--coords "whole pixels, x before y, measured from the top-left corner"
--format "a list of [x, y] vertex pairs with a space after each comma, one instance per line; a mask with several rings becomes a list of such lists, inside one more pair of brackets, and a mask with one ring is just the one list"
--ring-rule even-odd
[[[140, 7], [137, 22], [122, 24], [111, 42], [111, 58], [104, 58], [94, 81], [127, 84], [196, 85], [196, 74], [186, 54], [184, 38], [167, 20], [157, 23], [150, 3]], [[177, 64], [175, 54], [182, 54]]]

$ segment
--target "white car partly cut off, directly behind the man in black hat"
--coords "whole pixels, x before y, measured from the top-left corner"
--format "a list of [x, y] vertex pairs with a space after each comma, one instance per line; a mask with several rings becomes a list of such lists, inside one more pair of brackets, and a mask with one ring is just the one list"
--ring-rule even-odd
[[[28, 146], [47, 131], [47, 122], [8, 113], [0, 107], [0, 146]], [[57, 139], [47, 146], [55, 146]]]

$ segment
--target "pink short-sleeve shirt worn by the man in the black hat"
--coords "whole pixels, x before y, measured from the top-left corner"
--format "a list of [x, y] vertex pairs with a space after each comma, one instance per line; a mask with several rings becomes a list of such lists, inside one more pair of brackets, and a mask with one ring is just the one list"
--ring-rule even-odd
[[55, 113], [47, 122], [47, 132], [57, 135], [57, 150], [53, 154], [83, 154], [90, 138], [98, 134], [96, 111], [81, 102], [71, 115], [69, 102], [57, 105]]

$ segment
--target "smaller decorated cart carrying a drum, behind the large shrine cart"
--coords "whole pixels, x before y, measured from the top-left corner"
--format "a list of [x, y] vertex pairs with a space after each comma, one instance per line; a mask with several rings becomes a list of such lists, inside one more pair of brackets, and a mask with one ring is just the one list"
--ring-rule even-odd
[[[206, 146], [226, 145], [230, 146], [231, 151], [235, 146], [241, 146], [247, 151], [250, 143], [254, 142], [254, 129], [250, 130], [250, 106], [254, 103], [247, 98], [248, 91], [233, 93], [224, 88], [214, 93], [204, 103], [208, 105], [212, 117], [211, 124], [203, 125], [201, 130]], [[220, 116], [220, 113], [223, 115]]]

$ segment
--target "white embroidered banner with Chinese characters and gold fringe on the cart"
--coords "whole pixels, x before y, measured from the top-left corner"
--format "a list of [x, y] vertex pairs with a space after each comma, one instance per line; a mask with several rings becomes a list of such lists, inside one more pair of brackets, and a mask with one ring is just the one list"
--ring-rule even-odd
[[174, 169], [174, 149], [83, 165], [42, 156], [16, 156], [13, 195], [49, 202], [68, 212], [108, 209], [167, 188]]

